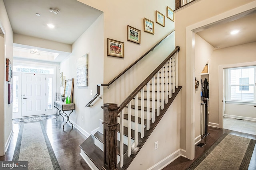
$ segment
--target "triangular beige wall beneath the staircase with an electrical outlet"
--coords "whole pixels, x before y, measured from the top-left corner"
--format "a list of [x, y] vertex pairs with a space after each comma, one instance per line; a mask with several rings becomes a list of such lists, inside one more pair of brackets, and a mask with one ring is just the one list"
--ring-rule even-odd
[[[167, 109], [128, 170], [162, 169], [180, 156], [180, 101], [181, 92]], [[154, 150], [156, 141], [158, 149]]]

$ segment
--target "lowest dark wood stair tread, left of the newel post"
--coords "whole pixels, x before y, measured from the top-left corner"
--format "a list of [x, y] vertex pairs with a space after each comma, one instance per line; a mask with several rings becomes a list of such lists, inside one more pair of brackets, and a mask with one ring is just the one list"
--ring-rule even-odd
[[80, 148], [92, 160], [92, 162], [101, 169], [103, 166], [104, 152], [94, 145], [94, 137], [90, 135], [81, 145]]

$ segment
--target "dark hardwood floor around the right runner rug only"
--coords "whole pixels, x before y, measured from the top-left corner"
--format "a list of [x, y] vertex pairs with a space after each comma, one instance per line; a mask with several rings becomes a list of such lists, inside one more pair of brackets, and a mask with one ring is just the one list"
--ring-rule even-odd
[[[256, 140], [256, 135], [251, 135], [247, 133], [241, 133], [236, 131], [231, 131], [227, 129], [218, 129], [209, 127], [209, 135], [202, 139], [202, 143], [206, 143], [206, 145], [202, 148], [195, 146], [195, 158], [193, 160], [189, 160], [180, 156], [168, 166], [163, 168], [163, 170], [185, 170], [190, 166], [196, 159], [201, 156], [212, 144], [214, 144], [224, 133], [229, 133], [231, 135], [237, 135], [241, 137], [246, 137], [249, 139]], [[252, 158], [250, 161], [250, 165], [248, 170], [256, 170], [256, 146], [254, 147], [254, 151], [252, 154]]]

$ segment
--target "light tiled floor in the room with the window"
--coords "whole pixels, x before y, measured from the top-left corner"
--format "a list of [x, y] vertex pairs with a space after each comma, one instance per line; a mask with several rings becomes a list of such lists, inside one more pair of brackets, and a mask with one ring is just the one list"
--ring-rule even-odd
[[256, 122], [224, 117], [224, 129], [256, 135]]

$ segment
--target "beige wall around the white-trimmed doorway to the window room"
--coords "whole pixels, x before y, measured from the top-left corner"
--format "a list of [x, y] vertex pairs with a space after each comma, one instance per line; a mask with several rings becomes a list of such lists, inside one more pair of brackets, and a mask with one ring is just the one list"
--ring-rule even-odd
[[[219, 68], [221, 65], [231, 65], [238, 63], [246, 63], [256, 61], [256, 42], [248, 43], [244, 45], [238, 45], [234, 47], [214, 50], [210, 59], [210, 74], [209, 74], [209, 86], [210, 86], [210, 123], [216, 123], [220, 126], [219, 122], [219, 96], [218, 92], [223, 92], [222, 89], [219, 89], [220, 77], [218, 72], [223, 72], [222, 68]], [[221, 69], [221, 70], [219, 70]]]

